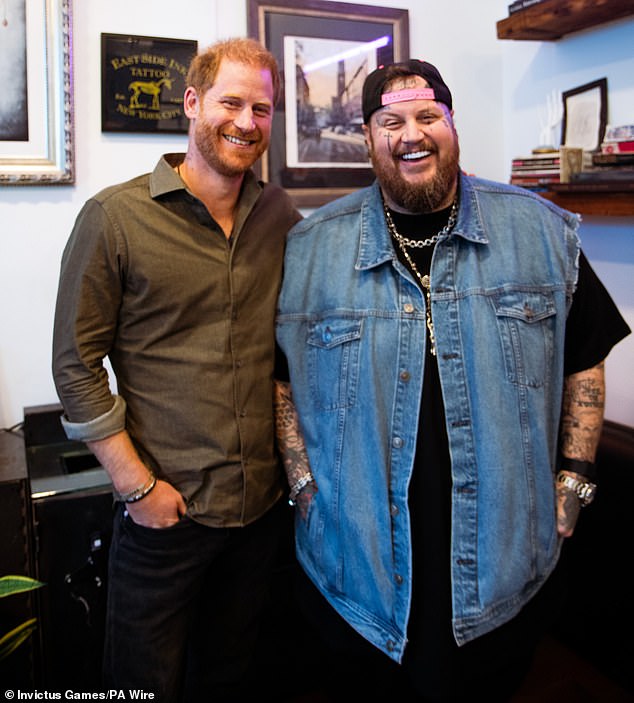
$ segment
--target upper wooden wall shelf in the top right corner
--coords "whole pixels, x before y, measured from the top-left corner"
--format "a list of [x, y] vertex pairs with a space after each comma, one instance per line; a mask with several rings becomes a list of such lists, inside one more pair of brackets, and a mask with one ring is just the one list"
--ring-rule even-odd
[[634, 15], [632, 0], [543, 0], [497, 23], [498, 39], [555, 41]]

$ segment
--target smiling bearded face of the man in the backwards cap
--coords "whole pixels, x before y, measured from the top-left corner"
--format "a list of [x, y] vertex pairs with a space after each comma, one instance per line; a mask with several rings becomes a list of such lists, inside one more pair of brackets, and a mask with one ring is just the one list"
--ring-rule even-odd
[[[421, 76], [397, 78], [385, 92], [426, 88]], [[372, 166], [387, 204], [409, 213], [451, 205], [460, 148], [451, 112], [434, 100], [408, 99], [377, 110], [364, 126]]]

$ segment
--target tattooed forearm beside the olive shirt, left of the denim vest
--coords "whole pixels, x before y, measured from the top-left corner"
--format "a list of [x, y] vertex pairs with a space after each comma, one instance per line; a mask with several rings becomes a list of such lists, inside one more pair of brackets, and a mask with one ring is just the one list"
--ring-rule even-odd
[[289, 485], [310, 471], [304, 438], [299, 427], [299, 417], [293, 404], [289, 383], [275, 381], [273, 410], [275, 436]]

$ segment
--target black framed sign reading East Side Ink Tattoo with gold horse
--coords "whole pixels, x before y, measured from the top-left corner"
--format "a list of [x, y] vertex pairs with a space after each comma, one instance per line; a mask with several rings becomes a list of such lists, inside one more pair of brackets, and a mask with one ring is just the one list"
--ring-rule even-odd
[[186, 133], [185, 79], [198, 42], [101, 35], [101, 131]]

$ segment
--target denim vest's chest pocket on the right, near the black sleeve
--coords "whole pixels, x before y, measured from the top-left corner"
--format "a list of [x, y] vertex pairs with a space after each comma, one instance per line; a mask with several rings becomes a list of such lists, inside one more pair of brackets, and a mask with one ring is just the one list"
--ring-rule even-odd
[[495, 300], [509, 381], [540, 388], [554, 348], [555, 302], [549, 293], [512, 291]]

